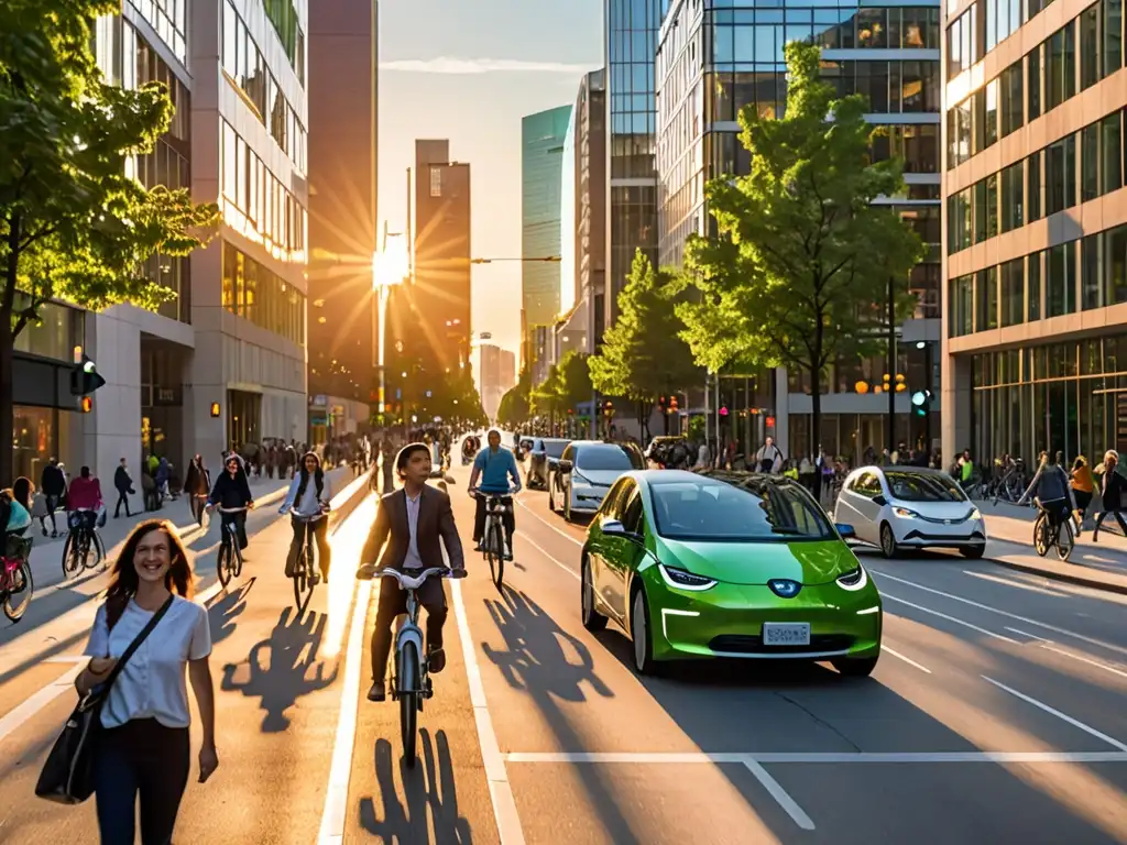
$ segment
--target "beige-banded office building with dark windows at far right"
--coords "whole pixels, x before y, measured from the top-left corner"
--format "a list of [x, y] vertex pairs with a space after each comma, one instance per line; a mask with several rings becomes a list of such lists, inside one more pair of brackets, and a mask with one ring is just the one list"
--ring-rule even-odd
[[1127, 451], [1122, 5], [962, 0], [944, 29], [944, 461]]

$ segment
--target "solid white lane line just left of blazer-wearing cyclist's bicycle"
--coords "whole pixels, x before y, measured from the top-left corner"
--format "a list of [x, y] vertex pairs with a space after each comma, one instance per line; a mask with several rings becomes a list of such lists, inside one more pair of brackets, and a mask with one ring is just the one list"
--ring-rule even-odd
[[345, 659], [345, 679], [340, 690], [340, 711], [337, 715], [337, 738], [329, 765], [329, 789], [325, 794], [320, 845], [344, 842], [345, 820], [348, 813], [348, 781], [352, 777], [353, 750], [356, 744], [356, 711], [360, 706], [364, 660], [364, 628], [372, 599], [372, 581], [358, 581], [356, 603], [353, 605], [352, 626], [348, 629], [348, 656]]

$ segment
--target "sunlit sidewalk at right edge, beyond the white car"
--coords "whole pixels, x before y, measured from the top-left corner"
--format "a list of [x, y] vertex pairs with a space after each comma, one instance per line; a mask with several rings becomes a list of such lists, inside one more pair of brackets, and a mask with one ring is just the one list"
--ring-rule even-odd
[[1118, 526], [1112, 528], [1104, 522], [1098, 543], [1085, 527], [1068, 561], [1062, 562], [1056, 550], [1050, 549], [1044, 558], [1033, 551], [1035, 508], [976, 504], [986, 519], [987, 559], [1030, 575], [1127, 595], [1127, 537], [1118, 533]]

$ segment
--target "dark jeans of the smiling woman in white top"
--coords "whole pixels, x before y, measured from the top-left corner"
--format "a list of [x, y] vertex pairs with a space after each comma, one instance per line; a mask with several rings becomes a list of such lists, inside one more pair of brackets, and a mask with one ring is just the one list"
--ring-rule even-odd
[[142, 845], [170, 845], [188, 784], [188, 729], [134, 719], [104, 730], [99, 742], [94, 776], [101, 845], [133, 845], [137, 793]]

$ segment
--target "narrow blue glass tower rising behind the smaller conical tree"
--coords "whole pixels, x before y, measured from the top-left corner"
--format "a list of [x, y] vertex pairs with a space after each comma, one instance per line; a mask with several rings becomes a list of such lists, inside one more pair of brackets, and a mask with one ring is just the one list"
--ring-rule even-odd
[[[635, 252], [657, 263], [657, 106], [654, 55], [668, 0], [606, 0], [607, 70], [606, 296], [603, 324], [618, 318], [618, 296]], [[696, 3], [698, 8], [700, 3]]]

